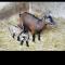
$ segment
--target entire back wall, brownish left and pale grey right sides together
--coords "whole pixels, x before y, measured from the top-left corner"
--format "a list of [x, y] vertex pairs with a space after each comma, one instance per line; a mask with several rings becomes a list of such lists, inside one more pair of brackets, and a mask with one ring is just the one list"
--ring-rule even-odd
[[[1, 5], [0, 5], [1, 6]], [[29, 11], [39, 17], [48, 10], [52, 12], [55, 17], [65, 17], [65, 2], [10, 2], [0, 10], [0, 20], [9, 18], [21, 11]]]

